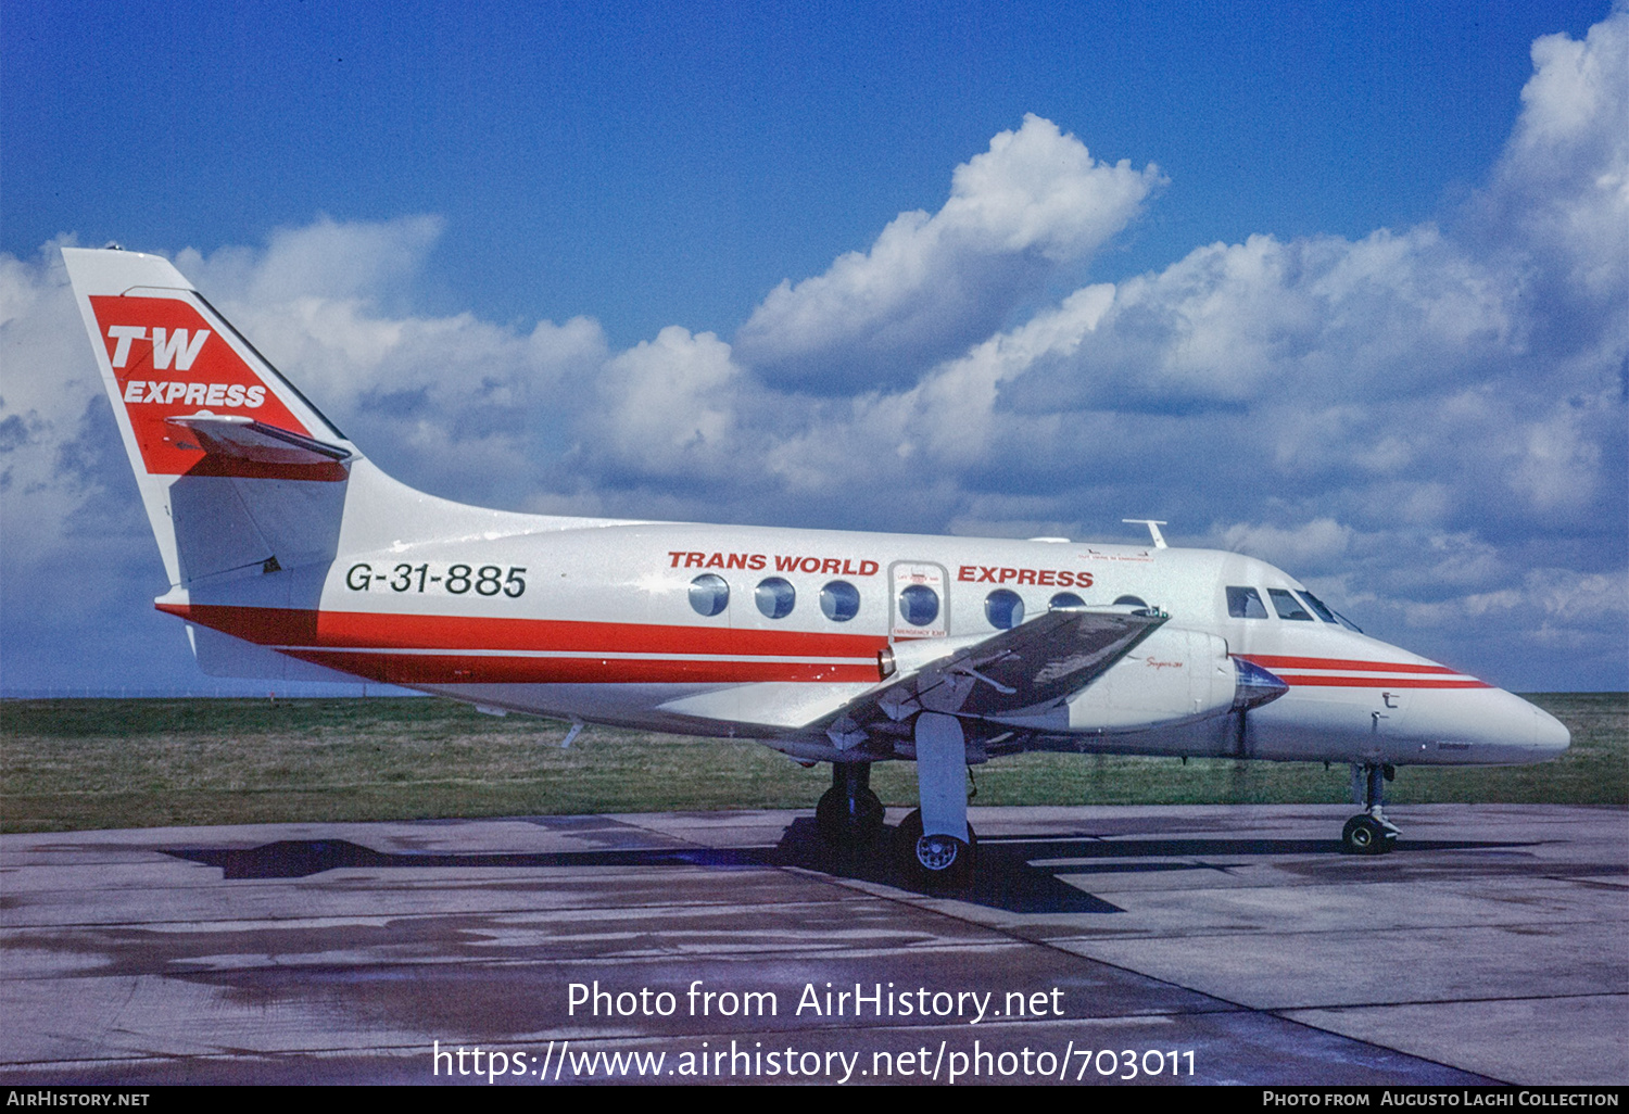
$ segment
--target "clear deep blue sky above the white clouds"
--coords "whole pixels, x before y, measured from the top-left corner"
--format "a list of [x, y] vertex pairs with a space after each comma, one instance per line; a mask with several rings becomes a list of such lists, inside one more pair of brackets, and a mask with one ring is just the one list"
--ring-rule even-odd
[[[875, 8], [881, 8], [873, 10]], [[0, 248], [437, 213], [428, 308], [728, 336], [1026, 112], [1171, 179], [1091, 277], [1438, 217], [1595, 3], [8, 5]], [[608, 15], [614, 11], [614, 15]], [[425, 308], [425, 303], [415, 303]]]

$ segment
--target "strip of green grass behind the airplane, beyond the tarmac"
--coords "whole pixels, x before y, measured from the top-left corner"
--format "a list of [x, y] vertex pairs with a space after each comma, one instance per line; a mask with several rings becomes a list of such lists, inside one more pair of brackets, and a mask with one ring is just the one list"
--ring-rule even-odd
[[[1629, 694], [1528, 697], [1572, 730], [1556, 762], [1407, 767], [1393, 801], [1629, 805]], [[428, 699], [10, 700], [0, 704], [0, 831], [376, 821], [549, 813], [813, 808], [826, 767], [753, 743], [494, 718]], [[1321, 764], [1028, 754], [977, 770], [979, 805], [1347, 800]], [[876, 767], [891, 805], [906, 762]]]

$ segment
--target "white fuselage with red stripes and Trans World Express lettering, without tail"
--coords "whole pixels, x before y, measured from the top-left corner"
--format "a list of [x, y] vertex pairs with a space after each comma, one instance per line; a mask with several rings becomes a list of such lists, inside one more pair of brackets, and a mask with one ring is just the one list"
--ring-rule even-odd
[[[1134, 598], [1168, 612], [1165, 629], [1067, 717], [989, 754], [1515, 764], [1567, 746], [1539, 708], [1319, 617], [1298, 581], [1236, 554], [533, 518], [432, 500], [367, 461], [350, 485], [371, 498], [345, 515], [331, 562], [194, 585], [160, 606], [350, 676], [831, 761], [828, 736], [803, 728], [876, 687], [885, 647], [989, 637], [1016, 619], [1013, 603], [1034, 617]], [[1230, 607], [1230, 590], [1259, 607]], [[930, 603], [907, 614], [907, 594]], [[1241, 730], [1232, 689], [1220, 704], [1201, 692], [1205, 647], [1290, 691]]]

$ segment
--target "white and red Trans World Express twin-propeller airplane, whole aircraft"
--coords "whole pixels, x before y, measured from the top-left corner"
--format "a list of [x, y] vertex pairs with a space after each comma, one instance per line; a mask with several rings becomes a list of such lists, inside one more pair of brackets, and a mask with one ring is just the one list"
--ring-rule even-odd
[[1399, 765], [1525, 764], [1549, 713], [1372, 638], [1232, 552], [521, 515], [380, 471], [160, 256], [64, 248], [169, 590], [215, 676], [380, 681], [490, 712], [829, 762], [821, 836], [964, 886], [968, 772], [1025, 751], [1341, 762], [1352, 853]]

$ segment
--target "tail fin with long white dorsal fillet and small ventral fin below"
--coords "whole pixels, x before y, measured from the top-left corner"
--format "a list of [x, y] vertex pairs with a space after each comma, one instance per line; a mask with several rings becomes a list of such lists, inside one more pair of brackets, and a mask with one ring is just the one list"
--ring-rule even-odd
[[397, 484], [168, 261], [77, 248], [62, 257], [169, 575], [156, 606], [189, 621], [205, 673], [347, 679], [269, 648], [314, 630], [342, 536], [347, 552], [368, 552], [604, 524]]

